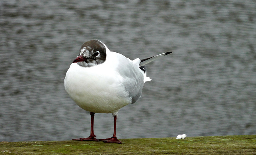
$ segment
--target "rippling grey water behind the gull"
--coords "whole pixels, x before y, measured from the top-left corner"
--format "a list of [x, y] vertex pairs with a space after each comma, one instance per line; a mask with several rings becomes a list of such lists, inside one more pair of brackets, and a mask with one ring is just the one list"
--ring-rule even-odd
[[[255, 0], [1, 0], [0, 141], [88, 137], [89, 112], [64, 90], [80, 46], [169, 56], [119, 111], [118, 138], [256, 134]], [[98, 138], [111, 114], [95, 115]]]

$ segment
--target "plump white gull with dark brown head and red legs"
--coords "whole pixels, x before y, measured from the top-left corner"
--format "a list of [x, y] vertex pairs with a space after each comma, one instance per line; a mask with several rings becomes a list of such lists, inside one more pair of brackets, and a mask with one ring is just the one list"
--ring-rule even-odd
[[[70, 98], [91, 116], [90, 136], [72, 140], [122, 142], [116, 137], [118, 110], [135, 103], [142, 94], [142, 87], [151, 79], [146, 76], [145, 65], [172, 52], [165, 52], [146, 59], [130, 60], [111, 52], [100, 40], [82, 44], [79, 55], [66, 72], [64, 87]], [[95, 113], [112, 113], [114, 133], [107, 139], [96, 139]]]

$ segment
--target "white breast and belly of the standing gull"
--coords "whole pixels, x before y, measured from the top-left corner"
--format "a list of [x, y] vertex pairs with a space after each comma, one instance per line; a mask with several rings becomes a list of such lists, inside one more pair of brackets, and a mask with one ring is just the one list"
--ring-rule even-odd
[[100, 65], [83, 68], [76, 63], [71, 64], [64, 84], [72, 100], [86, 111], [116, 113], [131, 103], [131, 97], [122, 85], [122, 78], [107, 72]]

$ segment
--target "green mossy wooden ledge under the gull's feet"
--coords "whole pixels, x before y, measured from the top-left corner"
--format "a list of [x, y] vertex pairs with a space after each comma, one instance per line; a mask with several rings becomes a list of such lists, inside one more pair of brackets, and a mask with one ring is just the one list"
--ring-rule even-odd
[[186, 139], [120, 139], [122, 144], [102, 141], [0, 142], [0, 154], [256, 154], [256, 135], [186, 137]]

